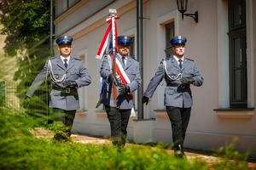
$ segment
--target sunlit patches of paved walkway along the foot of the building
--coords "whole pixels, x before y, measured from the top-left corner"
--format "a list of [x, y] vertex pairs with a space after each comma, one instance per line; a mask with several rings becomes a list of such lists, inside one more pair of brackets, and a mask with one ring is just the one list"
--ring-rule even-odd
[[[38, 138], [53, 138], [53, 134], [49, 131], [38, 128], [37, 131], [32, 131], [34, 135]], [[111, 142], [108, 140], [107, 137], [102, 136], [92, 136], [87, 134], [72, 134], [71, 138], [75, 142], [79, 142], [82, 144], [111, 144]], [[131, 144], [127, 143], [125, 146], [129, 146]], [[168, 153], [173, 154], [173, 150], [166, 150]], [[211, 152], [202, 151], [202, 150], [189, 150], [185, 149], [185, 155], [187, 156], [187, 159], [190, 161], [193, 161], [195, 158], [202, 158], [203, 160], [207, 161], [208, 163], [216, 163], [220, 159], [218, 157], [212, 156]], [[256, 169], [256, 157], [253, 157], [251, 160], [247, 161], [248, 167], [252, 169]]]

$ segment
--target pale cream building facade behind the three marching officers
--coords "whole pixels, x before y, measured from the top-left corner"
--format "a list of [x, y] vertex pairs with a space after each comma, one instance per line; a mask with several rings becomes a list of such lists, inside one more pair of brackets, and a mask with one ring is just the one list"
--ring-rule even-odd
[[[102, 88], [96, 53], [107, 30], [108, 10], [114, 8], [118, 34], [133, 38], [131, 54], [137, 57], [137, 0], [56, 1], [55, 35], [73, 36], [74, 57], [84, 61], [92, 83], [79, 89], [81, 111], [73, 132], [110, 135], [108, 117], [96, 103]], [[192, 107], [184, 147], [214, 150], [238, 139], [237, 150], [256, 149], [255, 67], [256, 1], [189, 0], [185, 14], [198, 11], [198, 22], [177, 10], [176, 0], [143, 0], [143, 88], [162, 58], [171, 52], [172, 36], [187, 37], [186, 57], [197, 63], [204, 84], [192, 87]], [[128, 139], [137, 143], [172, 144], [171, 122], [165, 111], [160, 83], [143, 107], [143, 120], [131, 118]], [[138, 105], [135, 94], [136, 109]]]

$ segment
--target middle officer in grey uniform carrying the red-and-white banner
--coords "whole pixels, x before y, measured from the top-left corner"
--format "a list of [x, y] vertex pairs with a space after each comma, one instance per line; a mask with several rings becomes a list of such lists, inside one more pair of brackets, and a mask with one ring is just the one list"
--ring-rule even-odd
[[[107, 82], [107, 86], [103, 89], [101, 102], [105, 106], [105, 111], [108, 114], [108, 121], [111, 127], [111, 137], [113, 145], [120, 148], [125, 146], [126, 128], [131, 116], [131, 108], [134, 106], [131, 93], [133, 93], [141, 84], [141, 76], [139, 71], [139, 63], [136, 59], [129, 56], [131, 37], [120, 36], [116, 37], [118, 42], [118, 53], [116, 60], [119, 61], [126, 76], [130, 82], [125, 84], [119, 78], [113, 75], [113, 59], [110, 55], [105, 55], [102, 60], [101, 77]], [[117, 97], [113, 99], [113, 84], [117, 85]]]

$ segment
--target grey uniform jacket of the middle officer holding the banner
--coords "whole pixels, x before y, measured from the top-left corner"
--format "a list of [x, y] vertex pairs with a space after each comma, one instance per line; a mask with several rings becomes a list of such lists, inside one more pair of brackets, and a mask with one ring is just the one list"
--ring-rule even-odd
[[[130, 83], [128, 84], [131, 93], [137, 90], [141, 84], [141, 76], [139, 70], [139, 63], [136, 59], [131, 57], [127, 58], [126, 64], [123, 65], [121, 59], [119, 58], [119, 54], [116, 54], [116, 59], [119, 59], [119, 62], [124, 68], [124, 71], [127, 77], [130, 79]], [[106, 88], [103, 89], [103, 93], [101, 96], [101, 101], [103, 105], [112, 106], [114, 104], [113, 100], [113, 86], [111, 83], [108, 83], [108, 77], [112, 73], [112, 60], [109, 55], [105, 55], [102, 60], [102, 68], [100, 71], [101, 77], [103, 81], [107, 82]], [[133, 99], [131, 99], [131, 94], [122, 94], [119, 95], [119, 87], [117, 87], [117, 99], [116, 105], [119, 109], [131, 109], [134, 106]]]

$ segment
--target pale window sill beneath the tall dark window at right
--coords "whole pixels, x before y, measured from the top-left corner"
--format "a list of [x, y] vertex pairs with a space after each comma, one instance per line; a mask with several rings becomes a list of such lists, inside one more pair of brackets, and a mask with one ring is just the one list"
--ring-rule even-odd
[[222, 118], [252, 118], [254, 116], [254, 108], [218, 108], [213, 111]]

